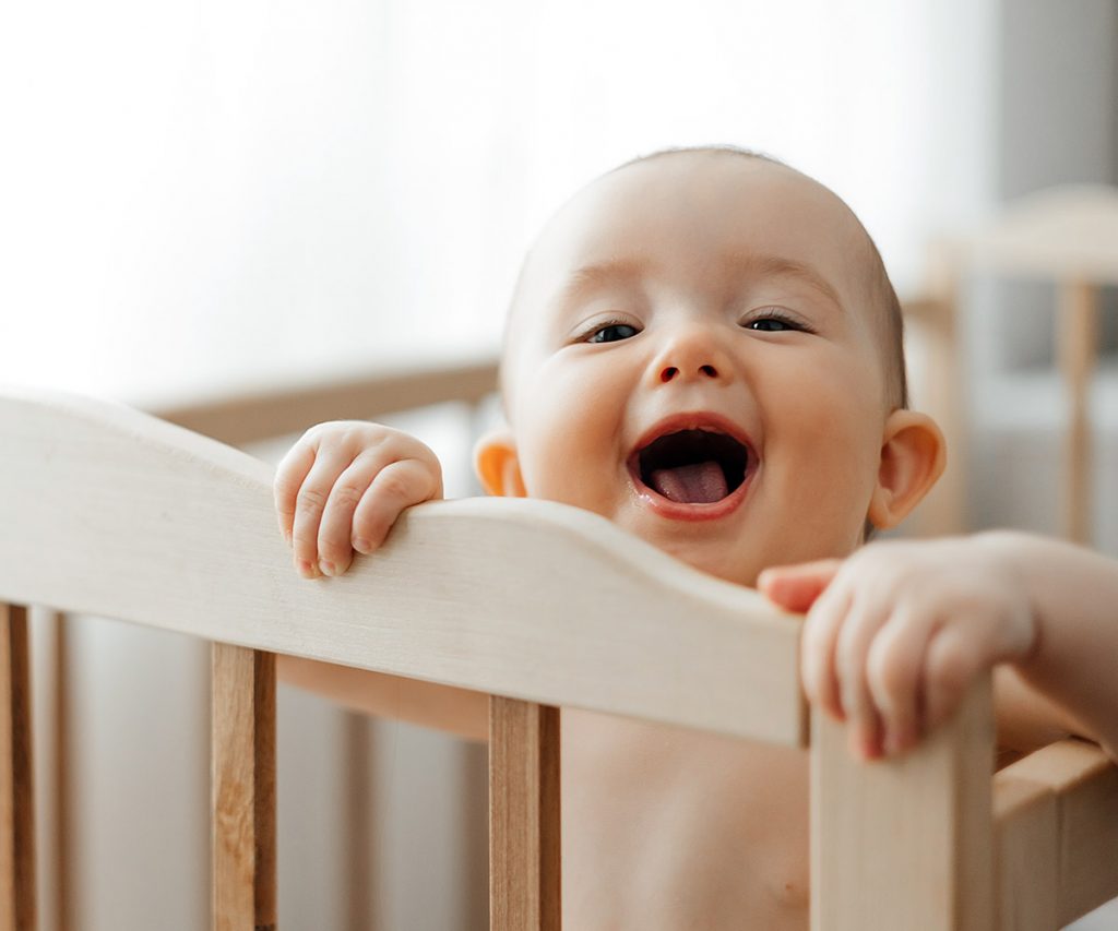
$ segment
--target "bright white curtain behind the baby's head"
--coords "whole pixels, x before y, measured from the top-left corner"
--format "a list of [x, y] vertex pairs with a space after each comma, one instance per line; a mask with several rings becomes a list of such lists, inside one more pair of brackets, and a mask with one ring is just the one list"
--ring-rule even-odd
[[149, 403], [492, 345], [546, 216], [664, 145], [816, 174], [910, 288], [989, 199], [993, 7], [4, 4], [0, 378]]

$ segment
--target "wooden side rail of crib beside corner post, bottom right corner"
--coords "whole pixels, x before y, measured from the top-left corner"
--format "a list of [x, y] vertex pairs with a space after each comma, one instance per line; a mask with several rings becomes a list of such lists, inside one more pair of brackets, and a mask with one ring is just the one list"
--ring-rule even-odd
[[[994, 786], [998, 833], [1018, 844], [1003, 865], [1004, 884], [1054, 886], [1048, 928], [1118, 896], [1118, 767], [1099, 747], [1081, 740], [1045, 747], [998, 772]], [[1040, 810], [1046, 806], [1051, 824]]]

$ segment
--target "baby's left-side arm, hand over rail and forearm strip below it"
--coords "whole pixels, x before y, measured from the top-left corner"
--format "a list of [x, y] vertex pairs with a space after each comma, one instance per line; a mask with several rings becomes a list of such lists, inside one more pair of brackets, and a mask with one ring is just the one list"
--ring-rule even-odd
[[[307, 430], [276, 469], [280, 530], [307, 579], [340, 576], [354, 551], [370, 553], [413, 504], [443, 496], [435, 454], [415, 437], [344, 420]], [[489, 700], [479, 692], [399, 678], [294, 656], [277, 657], [281, 678], [367, 714], [484, 740]]]

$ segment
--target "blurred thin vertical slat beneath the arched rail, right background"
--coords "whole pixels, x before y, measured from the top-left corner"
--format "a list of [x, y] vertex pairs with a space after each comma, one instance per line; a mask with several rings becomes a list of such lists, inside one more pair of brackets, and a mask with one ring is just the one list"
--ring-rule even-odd
[[1076, 543], [1091, 542], [1091, 435], [1088, 391], [1095, 369], [1098, 331], [1098, 291], [1086, 282], [1060, 287], [1057, 346], [1068, 391], [1068, 431], [1063, 446], [1064, 535]]

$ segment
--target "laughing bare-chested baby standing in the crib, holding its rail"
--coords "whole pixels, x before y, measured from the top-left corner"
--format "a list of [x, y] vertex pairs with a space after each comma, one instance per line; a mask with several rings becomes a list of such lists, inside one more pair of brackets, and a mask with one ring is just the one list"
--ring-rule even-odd
[[[807, 611], [805, 688], [855, 752], [903, 752], [1002, 663], [1003, 747], [1076, 733], [1115, 754], [1118, 564], [1015, 533], [862, 547], [931, 487], [944, 443], [907, 409], [878, 251], [823, 186], [717, 148], [599, 178], [524, 263], [501, 376], [509, 426], [479, 444], [485, 490], [594, 511]], [[313, 578], [376, 550], [442, 476], [409, 436], [324, 424], [275, 491]], [[281, 672], [485, 733], [481, 695], [290, 658]], [[566, 710], [561, 754], [568, 927], [806, 927], [802, 751]]]

